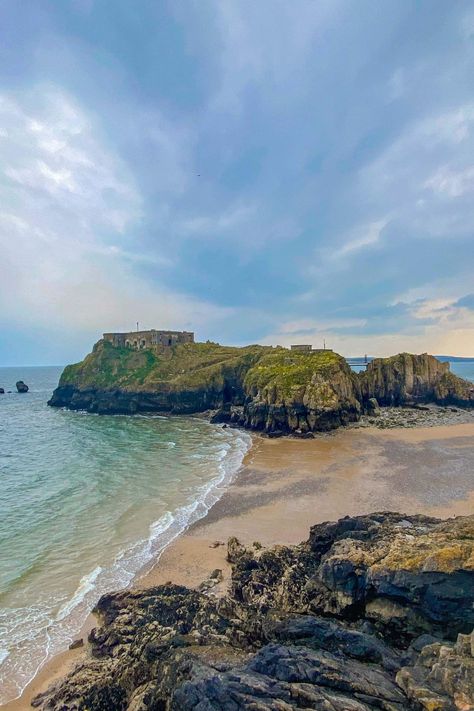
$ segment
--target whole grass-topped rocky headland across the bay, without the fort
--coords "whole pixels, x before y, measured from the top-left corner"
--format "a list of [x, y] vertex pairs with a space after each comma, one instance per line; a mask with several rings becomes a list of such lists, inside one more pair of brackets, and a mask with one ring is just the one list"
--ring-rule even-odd
[[137, 351], [101, 340], [65, 368], [49, 404], [99, 414], [214, 410], [215, 422], [310, 436], [379, 405], [426, 402], [474, 407], [474, 386], [427, 354], [377, 359], [354, 373], [331, 350], [185, 343]]

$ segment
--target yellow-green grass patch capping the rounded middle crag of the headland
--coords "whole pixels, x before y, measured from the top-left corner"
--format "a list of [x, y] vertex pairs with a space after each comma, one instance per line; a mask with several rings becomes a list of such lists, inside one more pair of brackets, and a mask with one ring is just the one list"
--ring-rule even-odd
[[264, 355], [245, 377], [248, 391], [260, 391], [274, 387], [283, 398], [289, 398], [298, 389], [305, 387], [315, 373], [329, 376], [335, 369], [348, 368], [344, 358], [334, 351], [309, 353], [274, 349]]

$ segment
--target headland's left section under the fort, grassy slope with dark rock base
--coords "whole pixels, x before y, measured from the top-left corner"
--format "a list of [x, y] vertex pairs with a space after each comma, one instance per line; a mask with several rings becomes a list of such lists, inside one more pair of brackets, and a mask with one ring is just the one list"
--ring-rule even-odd
[[186, 414], [243, 404], [243, 377], [263, 346], [188, 343], [156, 351], [99, 341], [81, 363], [64, 369], [49, 405], [100, 414]]

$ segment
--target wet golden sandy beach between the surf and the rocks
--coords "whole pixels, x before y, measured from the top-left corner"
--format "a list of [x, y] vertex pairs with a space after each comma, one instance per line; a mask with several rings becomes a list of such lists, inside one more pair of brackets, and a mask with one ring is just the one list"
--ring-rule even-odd
[[[232, 484], [207, 516], [174, 541], [135, 585], [172, 580], [196, 586], [219, 568], [225, 590], [229, 536], [264, 546], [298, 543], [318, 522], [371, 511], [439, 517], [474, 511], [474, 424], [414, 429], [346, 429], [315, 439], [267, 439], [253, 446]], [[94, 625], [91, 616], [82, 635]], [[84, 649], [52, 659], [5, 711], [28, 709], [31, 698], [62, 676]]]

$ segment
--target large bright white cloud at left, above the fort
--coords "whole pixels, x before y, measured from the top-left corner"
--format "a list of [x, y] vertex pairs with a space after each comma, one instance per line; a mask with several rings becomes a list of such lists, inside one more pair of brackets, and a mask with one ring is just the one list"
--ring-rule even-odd
[[129, 238], [142, 216], [140, 192], [71, 97], [51, 87], [0, 96], [0, 123], [4, 323], [100, 334], [136, 320], [204, 328], [229, 316], [140, 278], [137, 265], [169, 260]]

